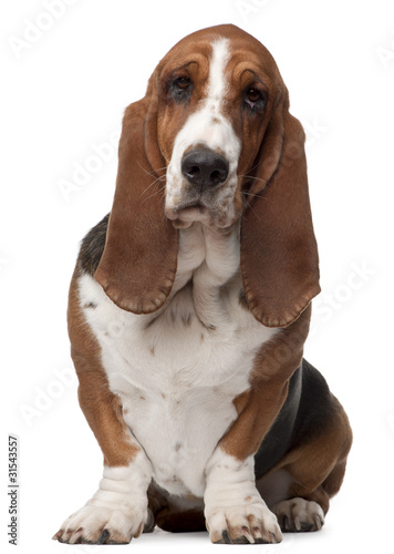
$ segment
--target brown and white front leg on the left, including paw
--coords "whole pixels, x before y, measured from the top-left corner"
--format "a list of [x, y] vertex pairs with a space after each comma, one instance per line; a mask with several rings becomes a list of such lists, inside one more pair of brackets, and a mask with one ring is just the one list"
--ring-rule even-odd
[[104, 454], [104, 474], [97, 492], [53, 538], [72, 544], [128, 543], [152, 523], [147, 509], [152, 465], [125, 424], [120, 398], [110, 390], [100, 346], [80, 306], [75, 278], [70, 289], [69, 331], [80, 404]]

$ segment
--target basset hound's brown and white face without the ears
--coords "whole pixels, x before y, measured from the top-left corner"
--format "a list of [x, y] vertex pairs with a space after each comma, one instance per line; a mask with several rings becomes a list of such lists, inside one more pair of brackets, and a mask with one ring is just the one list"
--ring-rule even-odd
[[176, 227], [229, 227], [241, 214], [246, 174], [258, 164], [284, 90], [277, 65], [245, 35], [199, 37], [177, 44], [156, 73], [166, 216]]

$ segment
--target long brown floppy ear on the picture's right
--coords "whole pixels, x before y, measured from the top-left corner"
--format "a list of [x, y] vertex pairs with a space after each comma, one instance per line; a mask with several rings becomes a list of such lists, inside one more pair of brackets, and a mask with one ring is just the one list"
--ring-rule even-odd
[[287, 327], [320, 293], [304, 133], [287, 105], [272, 114], [258, 163], [255, 182], [267, 185], [242, 217], [243, 290], [256, 319]]

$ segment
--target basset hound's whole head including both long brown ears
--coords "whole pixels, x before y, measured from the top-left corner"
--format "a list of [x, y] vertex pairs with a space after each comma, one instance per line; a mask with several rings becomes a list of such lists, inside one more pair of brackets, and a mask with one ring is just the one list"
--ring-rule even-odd
[[248, 306], [266, 326], [291, 324], [320, 290], [303, 143], [259, 41], [234, 25], [186, 37], [125, 112], [96, 280], [121, 308], [153, 312], [174, 283], [178, 229], [240, 220]]

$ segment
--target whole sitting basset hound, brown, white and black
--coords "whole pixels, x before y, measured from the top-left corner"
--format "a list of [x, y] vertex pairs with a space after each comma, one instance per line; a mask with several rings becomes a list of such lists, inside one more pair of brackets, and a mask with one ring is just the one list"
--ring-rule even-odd
[[321, 529], [352, 432], [302, 357], [319, 291], [304, 133], [276, 62], [237, 27], [195, 32], [126, 109], [113, 207], [82, 242], [69, 334], [104, 473], [54, 538]]

